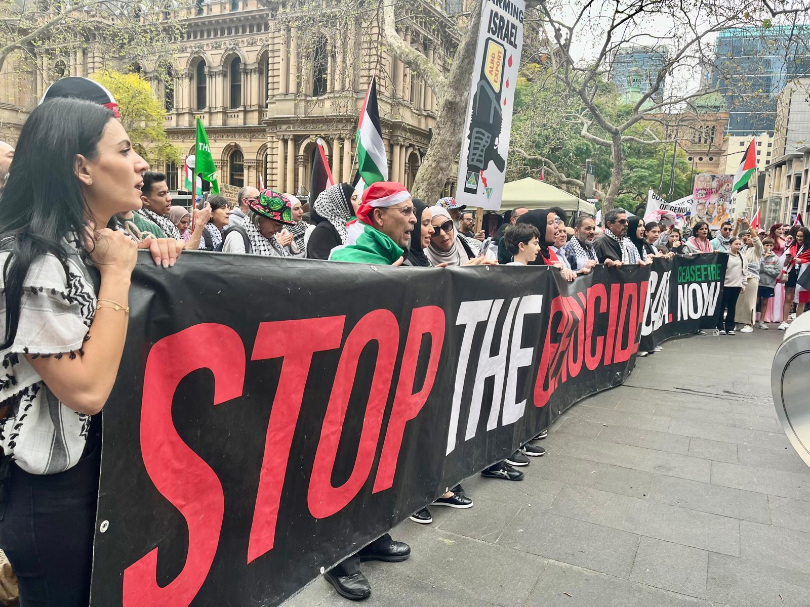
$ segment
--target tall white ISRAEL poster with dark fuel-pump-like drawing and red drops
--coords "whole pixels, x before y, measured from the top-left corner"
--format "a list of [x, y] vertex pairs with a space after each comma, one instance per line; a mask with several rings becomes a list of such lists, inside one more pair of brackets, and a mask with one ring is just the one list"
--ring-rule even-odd
[[498, 210], [506, 179], [526, 2], [485, 0], [482, 11], [456, 200]]

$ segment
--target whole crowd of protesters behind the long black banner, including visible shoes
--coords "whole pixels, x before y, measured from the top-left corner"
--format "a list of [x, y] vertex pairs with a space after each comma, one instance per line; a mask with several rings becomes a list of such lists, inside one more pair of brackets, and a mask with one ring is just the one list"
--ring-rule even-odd
[[[801, 314], [810, 299], [802, 286], [810, 261], [804, 227], [786, 234], [776, 224], [765, 235], [727, 222], [713, 237], [701, 222], [684, 241], [680, 229], [625, 210], [608, 211], [600, 228], [586, 215], [567, 227], [561, 209], [520, 208], [485, 246], [474, 216], [454, 199], [423, 202], [387, 181], [361, 196], [346, 183], [327, 188], [311, 201], [310, 221], [301, 201], [271, 189], [245, 187], [235, 202], [211, 196], [190, 209], [176, 206], [166, 176], [148, 171], [114, 108], [70, 97], [40, 104], [16, 150], [0, 146], [0, 547], [25, 607], [87, 605], [100, 411], [122, 359], [139, 248], [164, 269], [184, 250], [203, 250], [424, 268], [548, 265], [566, 281], [597, 265], [721, 251], [729, 261], [718, 333], [726, 335], [737, 324], [743, 332], [768, 322], [784, 329], [794, 300]], [[521, 480], [518, 468], [544, 455], [535, 441], [546, 435], [482, 474]], [[411, 520], [431, 523], [429, 507], [472, 506], [459, 485]], [[364, 599], [371, 591], [360, 562], [398, 562], [410, 552], [386, 534], [326, 579], [342, 596]]]

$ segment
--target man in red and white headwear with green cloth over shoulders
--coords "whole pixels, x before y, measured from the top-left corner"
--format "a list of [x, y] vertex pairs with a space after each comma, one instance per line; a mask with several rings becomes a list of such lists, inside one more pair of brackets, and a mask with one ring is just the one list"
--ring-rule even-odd
[[332, 249], [331, 261], [377, 265], [401, 262], [416, 227], [411, 194], [394, 181], [377, 181], [363, 193], [357, 221], [349, 226], [346, 244]]

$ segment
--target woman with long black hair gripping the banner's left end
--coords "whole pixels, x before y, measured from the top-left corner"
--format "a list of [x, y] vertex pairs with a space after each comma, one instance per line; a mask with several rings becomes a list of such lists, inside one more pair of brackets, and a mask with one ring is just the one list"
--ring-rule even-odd
[[[147, 168], [108, 108], [52, 100], [23, 126], [0, 198], [0, 547], [25, 607], [89, 601], [99, 413], [139, 246], [107, 226], [141, 207]], [[179, 253], [166, 239], [146, 246], [164, 266]]]

